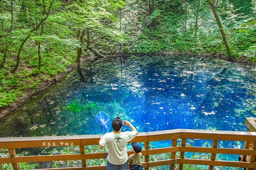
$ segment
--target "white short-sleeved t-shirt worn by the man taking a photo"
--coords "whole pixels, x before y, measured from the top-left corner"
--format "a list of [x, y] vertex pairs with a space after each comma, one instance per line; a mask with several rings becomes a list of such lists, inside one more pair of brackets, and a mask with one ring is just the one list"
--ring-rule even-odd
[[100, 145], [108, 144], [108, 161], [111, 164], [124, 164], [128, 161], [127, 143], [137, 135], [136, 131], [126, 131], [121, 133], [106, 133]]

